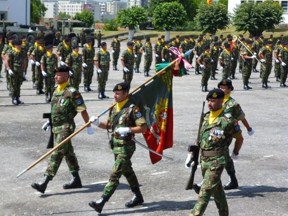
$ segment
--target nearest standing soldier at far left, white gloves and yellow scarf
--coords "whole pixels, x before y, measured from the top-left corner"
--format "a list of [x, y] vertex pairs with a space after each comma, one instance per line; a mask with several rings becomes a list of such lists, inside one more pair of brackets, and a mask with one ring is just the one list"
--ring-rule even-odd
[[20, 87], [25, 75], [27, 58], [25, 52], [22, 50], [22, 41], [14, 40], [13, 45], [15, 49], [9, 50], [5, 54], [5, 67], [9, 75], [10, 94], [12, 97], [12, 104], [23, 104], [20, 100]]

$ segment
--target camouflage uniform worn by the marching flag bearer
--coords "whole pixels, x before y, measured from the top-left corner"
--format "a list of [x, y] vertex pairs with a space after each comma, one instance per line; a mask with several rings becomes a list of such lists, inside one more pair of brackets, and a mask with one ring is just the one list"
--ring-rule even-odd
[[[140, 113], [138, 107], [132, 104], [128, 108], [123, 109], [125, 110], [121, 114], [118, 123], [115, 124], [115, 128], [136, 127], [146, 124], [146, 121]], [[118, 112], [116, 111], [116, 106], [114, 106], [108, 118], [108, 122], [111, 124], [111, 126], [113, 126], [117, 114]], [[103, 194], [107, 197], [111, 197], [115, 192], [117, 186], [119, 185], [119, 179], [122, 175], [124, 175], [127, 179], [132, 191], [139, 189], [139, 183], [131, 163], [131, 157], [136, 149], [135, 142], [131, 140], [131, 138], [134, 137], [134, 134], [129, 133], [124, 138], [121, 138], [114, 132], [114, 129], [112, 129], [112, 131], [113, 135], [111, 141], [113, 142], [112, 149], [115, 156], [115, 162], [111, 171], [109, 182], [106, 184], [103, 191]]]

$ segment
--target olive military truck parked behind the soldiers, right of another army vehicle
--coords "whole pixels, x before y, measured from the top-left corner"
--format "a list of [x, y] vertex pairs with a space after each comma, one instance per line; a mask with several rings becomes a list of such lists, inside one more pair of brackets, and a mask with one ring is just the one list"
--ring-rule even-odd
[[94, 28], [87, 28], [84, 22], [79, 20], [57, 20], [50, 22], [51, 29], [56, 32], [58, 29], [61, 32], [61, 37], [67, 35], [71, 39], [71, 45], [78, 44], [80, 42], [80, 32], [84, 29], [86, 38], [92, 38], [92, 46], [95, 43]]

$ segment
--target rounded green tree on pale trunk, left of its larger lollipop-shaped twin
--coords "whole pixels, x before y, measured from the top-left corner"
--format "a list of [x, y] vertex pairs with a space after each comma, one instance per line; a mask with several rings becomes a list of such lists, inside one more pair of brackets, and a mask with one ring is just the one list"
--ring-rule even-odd
[[129, 28], [129, 39], [134, 36], [135, 27], [147, 22], [147, 12], [143, 7], [121, 9], [116, 15], [116, 22], [121, 27]]

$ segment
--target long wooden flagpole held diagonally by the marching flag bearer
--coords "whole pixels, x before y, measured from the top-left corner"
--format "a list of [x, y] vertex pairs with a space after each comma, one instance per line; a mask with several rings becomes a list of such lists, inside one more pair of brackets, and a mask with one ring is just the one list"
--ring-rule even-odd
[[[146, 81], [144, 81], [143, 84], [137, 86], [136, 88], [134, 88], [129, 95], [132, 95], [134, 92], [136, 92], [138, 89], [142, 88], [146, 83], [148, 83], [149, 81], [151, 81], [152, 79], [154, 79], [155, 76], [159, 76], [162, 73], [165, 72], [165, 70], [167, 70], [169, 67], [172, 67], [176, 61], [178, 61], [179, 58], [175, 59], [173, 62], [171, 62], [168, 66], [166, 66], [165, 68], [163, 68], [162, 70], [160, 70], [159, 72], [156, 72], [153, 76], [151, 76], [150, 78], [148, 78]], [[101, 117], [102, 115], [104, 115], [106, 112], [108, 112], [110, 109], [112, 109], [114, 106], [116, 105], [116, 102], [114, 102], [112, 105], [110, 105], [107, 109], [103, 110], [100, 114], [97, 115], [97, 118]], [[24, 173], [26, 173], [28, 170], [30, 170], [32, 167], [34, 167], [37, 163], [39, 163], [40, 161], [42, 161], [44, 158], [46, 158], [48, 155], [50, 155], [52, 152], [54, 152], [56, 149], [58, 149], [59, 147], [61, 147], [62, 145], [64, 145], [65, 143], [67, 143], [69, 140], [72, 139], [72, 137], [74, 137], [75, 135], [77, 135], [79, 132], [81, 132], [82, 130], [84, 130], [86, 127], [88, 127], [91, 124], [91, 122], [87, 122], [85, 125], [83, 125], [81, 128], [79, 128], [77, 131], [75, 131], [74, 133], [72, 133], [68, 138], [66, 138], [64, 141], [62, 141], [60, 144], [56, 145], [54, 148], [52, 148], [50, 151], [48, 151], [47, 153], [45, 153], [43, 156], [41, 156], [38, 160], [36, 160], [35, 162], [33, 162], [30, 166], [28, 166], [26, 169], [22, 170], [18, 175], [17, 178], [20, 177], [21, 175], [23, 175]], [[163, 155], [164, 156], [164, 155]]]

